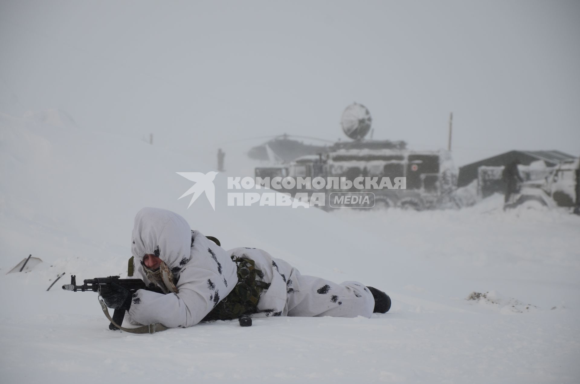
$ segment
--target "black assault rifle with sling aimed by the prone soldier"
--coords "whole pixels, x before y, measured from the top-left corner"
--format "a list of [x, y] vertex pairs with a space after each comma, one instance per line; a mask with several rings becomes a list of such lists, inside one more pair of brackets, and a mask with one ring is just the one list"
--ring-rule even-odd
[[[162, 294], [160, 288], [158, 287], [147, 287], [145, 282], [140, 278], [119, 278], [119, 276], [109, 276], [109, 277], [96, 277], [96, 278], [89, 278], [84, 280], [83, 285], [77, 285], [77, 277], [75, 275], [71, 276], [71, 284], [64, 284], [63, 289], [65, 291], [92, 291], [92, 292], [99, 292], [99, 295], [111, 291], [111, 287], [114, 284], [121, 285], [121, 287], [125, 288], [129, 291], [129, 294], [132, 295], [137, 291], [137, 289], [146, 289], [147, 291], [158, 292]], [[115, 309], [113, 312], [113, 318], [110, 317], [108, 314], [107, 307], [105, 306], [103, 300], [99, 299], [101, 303], [101, 307], [105, 316], [111, 321], [109, 324], [109, 329], [112, 331], [116, 331], [119, 328], [122, 328], [121, 325], [123, 323], [123, 318], [125, 317], [125, 310], [124, 309]], [[165, 329], [161, 324], [150, 324], [145, 325], [144, 327], [135, 328], [133, 331], [128, 331], [129, 328], [122, 328], [126, 332], [133, 332], [133, 333], [145, 333], [145, 332], [136, 332], [136, 329], [143, 328], [143, 331], [147, 331], [147, 333], [154, 333], [155, 331], [162, 331]], [[147, 328], [147, 329], [146, 329]], [[161, 329], [163, 328], [163, 329]]]

